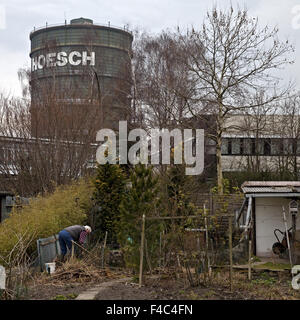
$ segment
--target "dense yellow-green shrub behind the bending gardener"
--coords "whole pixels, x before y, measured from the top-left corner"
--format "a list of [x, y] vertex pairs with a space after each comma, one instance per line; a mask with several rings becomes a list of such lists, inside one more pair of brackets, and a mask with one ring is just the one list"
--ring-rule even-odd
[[37, 239], [56, 234], [69, 225], [86, 222], [92, 193], [92, 183], [81, 179], [57, 187], [52, 194], [31, 199], [22, 208], [14, 207], [9, 218], [0, 224], [0, 263], [5, 265], [3, 259], [20, 244], [20, 239], [31, 254], [36, 249]]

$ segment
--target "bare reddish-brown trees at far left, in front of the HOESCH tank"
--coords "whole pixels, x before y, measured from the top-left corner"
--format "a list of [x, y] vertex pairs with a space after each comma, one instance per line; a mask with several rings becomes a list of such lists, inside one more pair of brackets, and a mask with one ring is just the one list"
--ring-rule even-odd
[[20, 76], [24, 97], [0, 98], [0, 185], [34, 196], [89, 171], [104, 99], [78, 101], [74, 84], [73, 91], [55, 91], [51, 78], [30, 99], [30, 72]]

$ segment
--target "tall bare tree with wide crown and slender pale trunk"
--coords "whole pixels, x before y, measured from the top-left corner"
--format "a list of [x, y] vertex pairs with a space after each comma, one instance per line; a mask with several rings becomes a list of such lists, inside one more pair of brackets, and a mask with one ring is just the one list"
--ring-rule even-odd
[[[227, 12], [213, 8], [201, 30], [179, 31], [178, 41], [179, 58], [195, 87], [192, 95], [182, 96], [199, 119], [207, 113], [216, 117], [216, 133], [211, 137], [216, 142], [218, 189], [223, 193], [221, 144], [226, 117], [278, 101], [287, 93], [274, 71], [292, 63], [287, 56], [293, 48], [278, 39], [277, 28], [260, 28], [247, 10], [232, 7]], [[260, 92], [264, 99], [257, 103]]]

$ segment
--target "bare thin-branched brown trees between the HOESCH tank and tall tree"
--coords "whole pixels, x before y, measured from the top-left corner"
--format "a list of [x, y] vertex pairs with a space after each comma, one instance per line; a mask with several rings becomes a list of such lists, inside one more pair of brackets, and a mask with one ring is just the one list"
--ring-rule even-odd
[[172, 33], [144, 33], [134, 46], [135, 93], [147, 128], [178, 126], [188, 115], [187, 102], [177, 91], [188, 90], [188, 70], [179, 63]]

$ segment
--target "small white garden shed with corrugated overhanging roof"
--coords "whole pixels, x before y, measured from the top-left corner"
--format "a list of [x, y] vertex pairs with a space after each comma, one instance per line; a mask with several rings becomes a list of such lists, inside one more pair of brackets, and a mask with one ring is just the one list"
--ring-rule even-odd
[[[253, 230], [254, 254], [276, 256], [273, 246], [284, 239], [286, 230], [291, 232], [292, 240], [299, 234], [300, 181], [246, 181], [241, 187], [246, 210], [240, 223], [243, 228]], [[295, 244], [295, 241], [289, 242], [291, 247]]]

